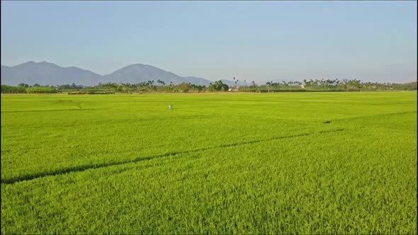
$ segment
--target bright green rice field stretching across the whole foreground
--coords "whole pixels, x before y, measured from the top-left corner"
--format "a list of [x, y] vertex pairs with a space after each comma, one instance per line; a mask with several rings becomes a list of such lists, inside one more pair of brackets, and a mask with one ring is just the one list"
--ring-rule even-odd
[[1, 96], [2, 234], [416, 231], [416, 92]]

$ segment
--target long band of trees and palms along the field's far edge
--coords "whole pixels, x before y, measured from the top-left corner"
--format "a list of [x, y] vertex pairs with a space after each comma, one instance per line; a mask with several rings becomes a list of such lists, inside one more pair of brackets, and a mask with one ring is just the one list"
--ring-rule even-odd
[[1, 93], [62, 93], [69, 94], [94, 94], [94, 93], [144, 93], [144, 92], [169, 92], [169, 93], [185, 93], [185, 92], [218, 92], [218, 91], [242, 91], [242, 92], [284, 92], [284, 91], [417, 91], [417, 81], [407, 84], [380, 84], [380, 83], [363, 83], [359, 80], [342, 80], [321, 79], [321, 80], [304, 80], [300, 81], [269, 81], [264, 85], [256, 85], [252, 81], [247, 86], [228, 86], [222, 81], [215, 81], [209, 86], [198, 86], [191, 83], [181, 83], [174, 85], [166, 84], [164, 81], [154, 80], [141, 82], [139, 84], [98, 84], [97, 86], [81, 86], [77, 84], [65, 84], [60, 86], [40, 86], [39, 84], [18, 84], [18, 86], [1, 85]]

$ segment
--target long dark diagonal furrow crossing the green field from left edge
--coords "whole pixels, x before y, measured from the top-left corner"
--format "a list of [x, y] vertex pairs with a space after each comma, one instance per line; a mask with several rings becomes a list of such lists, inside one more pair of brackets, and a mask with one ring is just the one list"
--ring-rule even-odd
[[215, 146], [215, 147], [203, 147], [203, 148], [198, 148], [198, 149], [191, 149], [191, 150], [187, 150], [187, 151], [171, 151], [171, 152], [167, 152], [165, 154], [159, 154], [159, 155], [154, 155], [154, 156], [142, 156], [142, 157], [132, 159], [132, 160], [129, 160], [129, 161], [104, 163], [104, 164], [89, 164], [89, 165], [84, 165], [84, 166], [74, 166], [74, 167], [69, 167], [69, 168], [58, 169], [58, 170], [50, 171], [50, 172], [33, 173], [33, 174], [28, 174], [28, 175], [23, 175], [23, 176], [16, 176], [16, 177], [7, 178], [7, 179], [1, 178], [1, 183], [2, 184], [13, 184], [13, 183], [21, 182], [21, 181], [35, 180], [36, 178], [43, 178], [43, 177], [47, 177], [47, 176], [59, 176], [59, 175], [64, 175], [66, 173], [73, 173], [73, 172], [75, 173], [75, 172], [80, 172], [80, 171], [87, 171], [87, 170], [90, 170], [90, 169], [104, 168], [104, 167], [108, 167], [108, 166], [119, 166], [119, 165], [123, 165], [123, 164], [137, 163], [137, 162], [140, 162], [140, 161], [147, 161], [147, 160], [151, 160], [151, 159], [160, 159], [160, 158], [164, 158], [164, 157], [167, 157], [167, 156], [176, 156], [176, 155], [179, 155], [179, 154], [190, 154], [190, 153], [197, 153], [197, 152], [200, 152], [200, 151], [206, 151], [206, 150], [210, 150], [210, 149], [236, 147], [236, 146], [245, 145], [245, 144], [255, 144], [255, 143], [260, 143], [260, 142], [269, 142], [269, 141], [278, 140], [278, 139], [290, 139], [290, 138], [295, 138], [295, 137], [310, 136], [310, 135], [313, 135], [313, 134], [324, 134], [324, 133], [341, 132], [341, 131], [344, 131], [344, 129], [339, 128], [339, 129], [335, 129], [335, 130], [324, 130], [324, 131], [315, 132], [315, 133], [293, 134], [293, 135], [288, 135], [288, 136], [283, 136], [283, 137], [273, 137], [273, 138], [269, 138], [269, 139], [256, 139], [256, 140], [250, 140], [250, 141], [246, 141], [246, 142], [237, 142], [237, 143], [232, 143], [232, 144], [221, 144], [221, 145]]

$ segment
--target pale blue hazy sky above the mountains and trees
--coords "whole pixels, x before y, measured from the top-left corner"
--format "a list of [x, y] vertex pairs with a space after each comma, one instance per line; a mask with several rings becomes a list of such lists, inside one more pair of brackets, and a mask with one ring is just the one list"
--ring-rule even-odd
[[417, 80], [417, 1], [1, 1], [1, 64]]

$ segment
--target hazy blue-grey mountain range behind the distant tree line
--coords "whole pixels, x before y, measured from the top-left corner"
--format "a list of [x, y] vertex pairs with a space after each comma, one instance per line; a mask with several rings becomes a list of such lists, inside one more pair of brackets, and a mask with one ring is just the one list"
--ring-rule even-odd
[[[113, 71], [111, 74], [100, 75], [93, 71], [80, 69], [78, 67], [60, 67], [50, 62], [25, 62], [13, 67], [1, 65], [1, 84], [16, 86], [18, 84], [40, 84], [40, 85], [62, 85], [77, 84], [83, 86], [94, 86], [99, 83], [129, 83], [138, 84], [154, 80], [164, 81], [166, 85], [171, 82], [181, 84], [183, 82], [208, 86], [211, 82], [194, 76], [179, 76], [170, 71], [159, 69], [149, 64], [130, 64], [126, 67]], [[222, 80], [229, 86], [235, 85], [234, 81]], [[238, 85], [244, 85], [239, 81]]]

